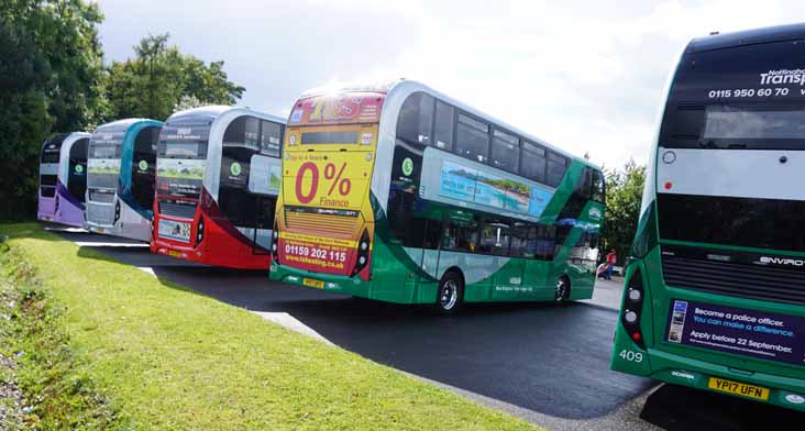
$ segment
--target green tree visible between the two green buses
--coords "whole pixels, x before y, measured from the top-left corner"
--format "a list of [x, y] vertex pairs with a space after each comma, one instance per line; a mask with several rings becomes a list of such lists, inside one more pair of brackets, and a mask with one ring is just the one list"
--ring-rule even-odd
[[[629, 159], [622, 168], [606, 170], [607, 210], [604, 223], [604, 251], [615, 248], [618, 263], [626, 262], [640, 218], [640, 201], [646, 183], [646, 166]], [[605, 253], [606, 254], [606, 253]]]

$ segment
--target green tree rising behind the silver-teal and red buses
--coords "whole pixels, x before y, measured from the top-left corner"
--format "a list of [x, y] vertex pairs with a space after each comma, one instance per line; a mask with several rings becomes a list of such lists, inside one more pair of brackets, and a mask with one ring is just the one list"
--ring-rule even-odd
[[228, 80], [223, 62], [206, 64], [168, 45], [169, 35], [150, 35], [134, 47], [134, 58], [108, 69], [110, 119], [168, 118], [177, 107], [233, 104], [245, 89]]

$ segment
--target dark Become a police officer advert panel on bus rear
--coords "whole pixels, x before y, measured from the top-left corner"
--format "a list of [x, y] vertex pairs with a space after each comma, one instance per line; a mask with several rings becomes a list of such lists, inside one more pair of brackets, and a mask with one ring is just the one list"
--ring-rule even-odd
[[805, 317], [672, 300], [665, 340], [787, 364], [805, 364]]

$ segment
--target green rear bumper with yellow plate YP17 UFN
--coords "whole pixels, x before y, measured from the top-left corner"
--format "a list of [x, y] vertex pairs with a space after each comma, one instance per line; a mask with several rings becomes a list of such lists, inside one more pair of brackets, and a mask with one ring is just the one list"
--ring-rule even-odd
[[[655, 349], [644, 351], [633, 343], [624, 343], [628, 338], [618, 340], [618, 335], [611, 362], [615, 371], [805, 411], [805, 379], [735, 369]], [[729, 383], [734, 390], [718, 389], [717, 379]]]

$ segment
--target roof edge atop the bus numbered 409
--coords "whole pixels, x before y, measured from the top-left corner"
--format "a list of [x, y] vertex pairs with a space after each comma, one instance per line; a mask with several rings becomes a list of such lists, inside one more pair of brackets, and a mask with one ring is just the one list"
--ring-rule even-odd
[[734, 46], [796, 40], [805, 40], [805, 24], [778, 25], [696, 37], [687, 45], [686, 52], [698, 53]]

